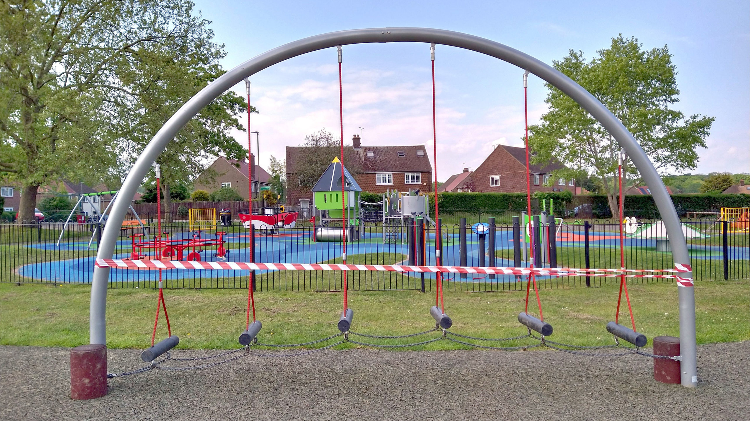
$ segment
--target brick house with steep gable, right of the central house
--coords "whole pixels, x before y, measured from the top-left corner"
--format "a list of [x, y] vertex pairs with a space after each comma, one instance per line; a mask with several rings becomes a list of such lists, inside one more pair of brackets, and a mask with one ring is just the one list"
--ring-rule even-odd
[[[531, 193], [557, 192], [570, 190], [576, 193], [574, 180], [554, 180], [552, 172], [565, 169], [562, 163], [553, 160], [550, 163], [530, 164]], [[497, 145], [477, 169], [452, 175], [443, 183], [438, 192], [480, 192], [480, 193], [526, 193], [526, 149], [514, 146]]]

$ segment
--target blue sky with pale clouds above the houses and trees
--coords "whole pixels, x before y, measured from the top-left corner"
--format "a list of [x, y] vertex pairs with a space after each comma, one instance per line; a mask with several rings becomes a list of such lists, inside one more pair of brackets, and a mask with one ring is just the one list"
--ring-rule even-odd
[[[592, 57], [622, 33], [645, 48], [669, 46], [680, 89], [675, 108], [716, 118], [694, 173], [750, 172], [748, 1], [196, 1], [224, 43], [226, 69], [284, 43], [352, 28], [419, 26], [462, 31], [520, 49], [548, 64], [568, 49]], [[565, 2], [567, 4], [567, 2]], [[323, 127], [338, 137], [335, 49], [269, 67], [251, 78], [260, 115], [260, 163], [284, 157]], [[437, 46], [438, 175], [474, 169], [493, 143], [521, 145], [523, 71], [495, 58]], [[344, 47], [344, 137], [363, 145], [431, 150], [427, 44]], [[236, 86], [245, 94], [244, 85]], [[546, 88], [529, 79], [529, 124], [544, 113]], [[247, 134], [236, 138], [247, 145]], [[253, 149], [256, 149], [254, 139]], [[465, 164], [464, 164], [465, 163]]]

